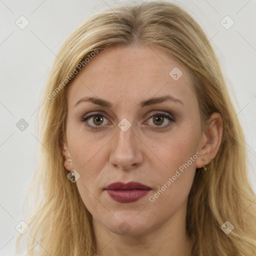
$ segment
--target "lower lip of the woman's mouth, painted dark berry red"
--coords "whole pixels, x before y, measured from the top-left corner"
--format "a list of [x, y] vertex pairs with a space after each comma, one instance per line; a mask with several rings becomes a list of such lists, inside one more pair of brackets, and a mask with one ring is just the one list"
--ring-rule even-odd
[[144, 197], [151, 189], [118, 189], [106, 190], [110, 197], [117, 202], [135, 202]]

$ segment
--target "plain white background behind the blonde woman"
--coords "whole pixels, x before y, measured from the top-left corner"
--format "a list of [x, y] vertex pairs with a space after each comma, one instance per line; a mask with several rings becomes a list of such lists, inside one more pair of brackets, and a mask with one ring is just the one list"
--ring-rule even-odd
[[[253, 165], [256, 162], [256, 94], [253, 94], [256, 93], [256, 2], [177, 2], [202, 26], [226, 79], [230, 80], [228, 89], [246, 137], [249, 179], [256, 191]], [[24, 189], [30, 182], [35, 145], [39, 143], [34, 118], [54, 54], [88, 13], [112, 3], [109, 0], [0, 1], [0, 255], [13, 254], [15, 226], [22, 219]], [[21, 15], [29, 21], [24, 29], [15, 24]], [[226, 15], [234, 21], [229, 29], [220, 23]], [[24, 131], [15, 125], [21, 118], [29, 123]]]

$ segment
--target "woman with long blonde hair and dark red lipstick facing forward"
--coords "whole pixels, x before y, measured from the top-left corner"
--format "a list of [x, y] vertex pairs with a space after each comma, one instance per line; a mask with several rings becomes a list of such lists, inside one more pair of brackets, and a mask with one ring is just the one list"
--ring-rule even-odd
[[243, 132], [209, 41], [180, 7], [90, 16], [42, 103], [28, 255], [255, 255]]

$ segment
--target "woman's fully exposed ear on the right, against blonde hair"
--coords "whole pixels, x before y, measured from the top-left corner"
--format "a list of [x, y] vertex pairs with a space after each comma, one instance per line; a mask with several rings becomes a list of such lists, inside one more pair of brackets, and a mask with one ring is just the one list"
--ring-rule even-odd
[[223, 121], [219, 113], [214, 112], [206, 122], [201, 136], [199, 151], [200, 157], [195, 161], [196, 168], [208, 164], [217, 154], [223, 133]]

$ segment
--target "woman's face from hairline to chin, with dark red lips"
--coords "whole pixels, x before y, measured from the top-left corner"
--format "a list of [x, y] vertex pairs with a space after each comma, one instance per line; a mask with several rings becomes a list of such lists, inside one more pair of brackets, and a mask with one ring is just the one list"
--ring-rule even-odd
[[133, 235], [179, 223], [205, 143], [188, 70], [157, 46], [109, 47], [67, 97], [64, 165], [93, 223]]

